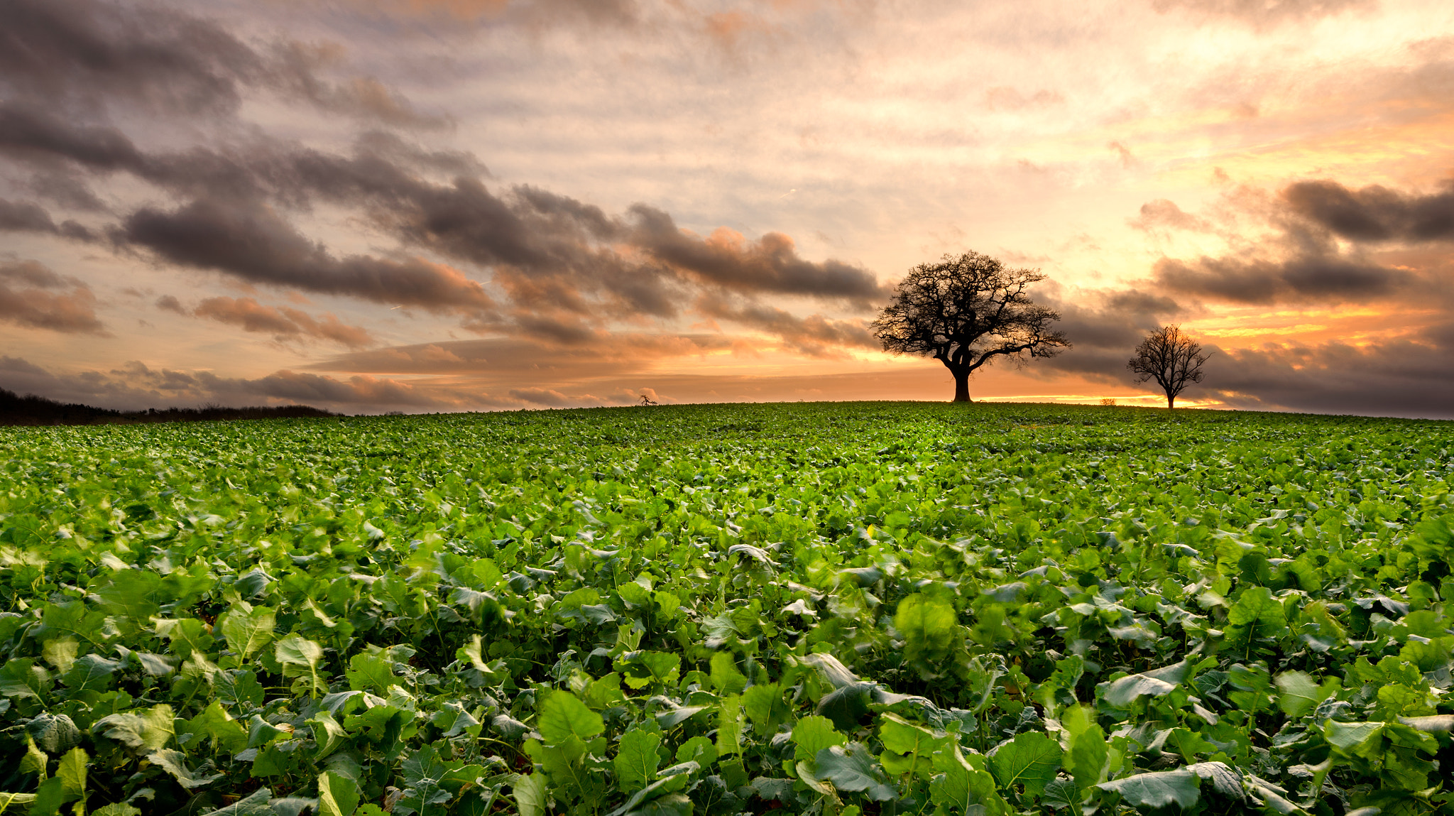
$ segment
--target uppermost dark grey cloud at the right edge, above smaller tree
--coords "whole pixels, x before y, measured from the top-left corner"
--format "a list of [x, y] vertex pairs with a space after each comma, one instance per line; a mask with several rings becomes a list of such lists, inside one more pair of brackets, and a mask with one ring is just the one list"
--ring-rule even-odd
[[1352, 191], [1333, 180], [1300, 182], [1282, 191], [1288, 208], [1352, 241], [1454, 240], [1454, 182], [1413, 195], [1384, 186]]

